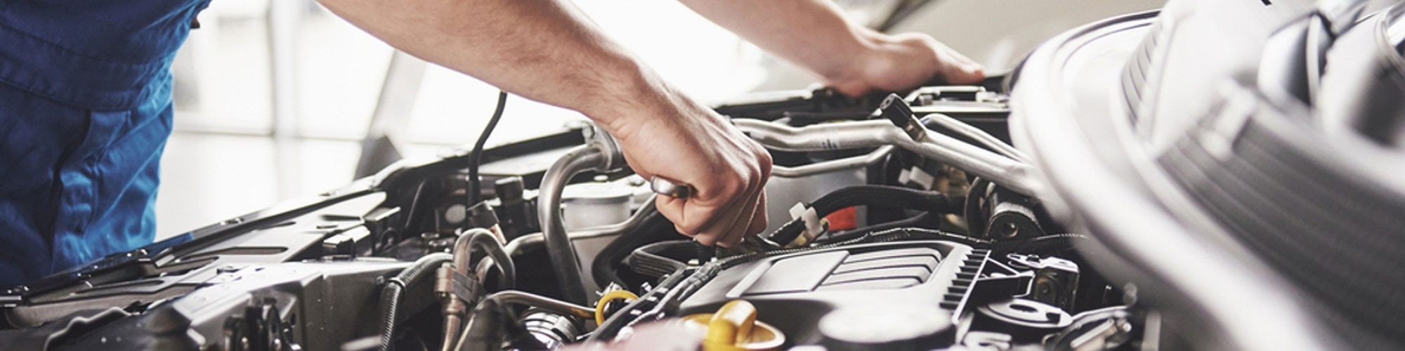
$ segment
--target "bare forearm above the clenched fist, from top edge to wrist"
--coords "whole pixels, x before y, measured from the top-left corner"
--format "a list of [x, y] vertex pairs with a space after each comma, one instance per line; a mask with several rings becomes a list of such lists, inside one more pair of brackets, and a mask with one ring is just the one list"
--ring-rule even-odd
[[561, 1], [319, 1], [400, 51], [600, 122], [629, 105], [622, 100], [663, 88], [634, 56]]

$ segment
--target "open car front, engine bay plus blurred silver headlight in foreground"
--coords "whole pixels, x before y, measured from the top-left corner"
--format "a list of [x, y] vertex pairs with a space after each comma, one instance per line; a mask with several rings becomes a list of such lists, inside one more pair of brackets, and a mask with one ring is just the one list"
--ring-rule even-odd
[[[1377, 177], [1398, 167], [1324, 168], [1321, 154], [1398, 157], [1394, 133], [1361, 125], [1398, 126], [1399, 95], [1380, 94], [1401, 87], [1375, 79], [1399, 81], [1401, 46], [1354, 77], [1273, 60], [1398, 45], [1401, 7], [1208, 3], [1087, 24], [984, 84], [715, 105], [776, 160], [771, 225], [733, 247], [674, 232], [613, 136], [576, 125], [400, 161], [3, 291], [0, 350], [1405, 344], [1405, 285], [1378, 268], [1401, 263], [1405, 192]], [[1224, 41], [1262, 51], [1184, 44], [1236, 15], [1262, 25]], [[1194, 58], [1228, 63], [1196, 70], [1213, 84], [1165, 83]], [[1390, 112], [1352, 115], [1352, 101]], [[1307, 117], [1350, 128], [1318, 136], [1294, 122]], [[1339, 188], [1321, 202], [1283, 198], [1324, 178]], [[1361, 234], [1322, 239], [1340, 227]]]

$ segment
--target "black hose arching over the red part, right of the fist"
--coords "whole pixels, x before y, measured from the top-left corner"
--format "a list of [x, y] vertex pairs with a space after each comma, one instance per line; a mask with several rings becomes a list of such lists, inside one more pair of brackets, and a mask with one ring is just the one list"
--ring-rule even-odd
[[[815, 199], [815, 202], [811, 204], [811, 208], [815, 209], [816, 215], [823, 218], [829, 213], [835, 213], [835, 211], [857, 205], [916, 209], [937, 213], [955, 213], [957, 211], [961, 211], [958, 204], [948, 199], [947, 195], [943, 195], [941, 192], [892, 185], [856, 185], [840, 188]], [[805, 222], [797, 218], [776, 229], [776, 232], [766, 234], [766, 239], [777, 244], [785, 244], [795, 240], [795, 237], [799, 237], [804, 232]]]

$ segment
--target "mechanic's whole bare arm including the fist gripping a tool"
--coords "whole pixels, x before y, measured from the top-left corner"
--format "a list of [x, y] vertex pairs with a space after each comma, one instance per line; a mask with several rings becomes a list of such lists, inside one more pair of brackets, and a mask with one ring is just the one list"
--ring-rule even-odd
[[697, 190], [656, 201], [679, 233], [732, 244], [766, 229], [766, 149], [673, 91], [575, 7], [555, 0], [319, 1], [410, 55], [586, 114], [620, 139], [636, 174]]

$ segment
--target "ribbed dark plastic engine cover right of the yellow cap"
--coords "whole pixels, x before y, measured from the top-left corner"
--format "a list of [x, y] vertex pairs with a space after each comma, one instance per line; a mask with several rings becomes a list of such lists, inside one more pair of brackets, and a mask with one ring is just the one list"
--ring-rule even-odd
[[[880, 309], [896, 300], [934, 307], [944, 319], [960, 316], [988, 254], [984, 249], [930, 240], [856, 244], [776, 256], [722, 271], [684, 300], [680, 313], [712, 313], [728, 300], [745, 299], [756, 306], [757, 320], [785, 333], [788, 344], [829, 345], [835, 340], [826, 340], [819, 322], [840, 309]], [[888, 322], [865, 319], [865, 323]], [[955, 331], [948, 327], [934, 330], [933, 336], [922, 340], [950, 345], [954, 336]], [[909, 345], [912, 340], [891, 341], [896, 344], [874, 347]], [[926, 345], [932, 347], [944, 345]]]

